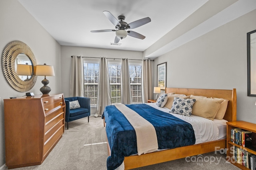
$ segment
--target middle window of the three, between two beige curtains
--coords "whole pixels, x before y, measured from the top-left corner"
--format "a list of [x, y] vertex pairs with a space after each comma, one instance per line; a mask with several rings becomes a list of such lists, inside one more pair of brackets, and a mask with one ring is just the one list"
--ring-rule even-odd
[[121, 104], [121, 64], [108, 63], [111, 103]]

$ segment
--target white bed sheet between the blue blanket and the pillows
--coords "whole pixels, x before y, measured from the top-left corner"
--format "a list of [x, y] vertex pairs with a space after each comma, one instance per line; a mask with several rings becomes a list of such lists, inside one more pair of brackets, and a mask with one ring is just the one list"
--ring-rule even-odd
[[156, 109], [160, 109], [161, 111], [164, 111], [166, 113], [169, 113], [171, 115], [174, 115], [175, 117], [178, 117], [179, 119], [182, 119], [188, 123], [190, 123], [194, 129], [195, 137], [196, 137], [196, 143], [205, 143], [210, 141], [217, 141], [220, 139], [226, 139], [226, 120], [218, 120], [214, 119], [214, 121], [205, 119], [203, 117], [192, 115], [191, 117], [170, 113], [170, 109], [167, 107], [160, 108], [156, 106], [155, 103], [147, 103], [149, 106], [152, 106]]

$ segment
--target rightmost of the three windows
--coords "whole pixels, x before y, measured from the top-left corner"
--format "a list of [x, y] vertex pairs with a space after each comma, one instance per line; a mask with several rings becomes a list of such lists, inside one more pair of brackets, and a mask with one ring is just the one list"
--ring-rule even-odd
[[129, 64], [132, 104], [142, 103], [141, 64]]

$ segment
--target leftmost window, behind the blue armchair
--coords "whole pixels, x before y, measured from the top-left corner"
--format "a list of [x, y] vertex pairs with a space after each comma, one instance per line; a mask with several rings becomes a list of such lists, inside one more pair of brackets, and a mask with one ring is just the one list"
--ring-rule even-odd
[[84, 61], [84, 96], [91, 99], [91, 106], [97, 105], [99, 62]]

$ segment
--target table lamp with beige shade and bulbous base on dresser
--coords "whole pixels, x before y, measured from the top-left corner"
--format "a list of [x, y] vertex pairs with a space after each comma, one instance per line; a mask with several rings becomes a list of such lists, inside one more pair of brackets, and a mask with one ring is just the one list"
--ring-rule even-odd
[[46, 64], [37, 65], [36, 76], [44, 76], [44, 80], [42, 80], [42, 84], [44, 84], [44, 86], [40, 88], [40, 92], [42, 92], [42, 94], [49, 94], [51, 88], [47, 86], [47, 84], [49, 84], [49, 80], [46, 79], [46, 76], [55, 76], [53, 66]]

